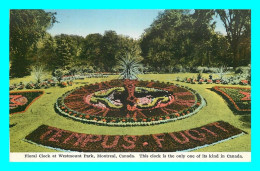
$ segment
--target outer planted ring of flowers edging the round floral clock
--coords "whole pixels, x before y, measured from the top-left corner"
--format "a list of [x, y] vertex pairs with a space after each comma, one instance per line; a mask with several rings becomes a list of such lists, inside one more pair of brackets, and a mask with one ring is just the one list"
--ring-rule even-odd
[[[155, 82], [158, 84], [166, 84], [166, 83], [160, 83]], [[96, 83], [94, 85], [89, 85], [90, 87], [98, 86], [99, 83]], [[158, 115], [155, 117], [150, 118], [127, 118], [127, 117], [106, 117], [106, 116], [97, 116], [92, 113], [82, 113], [75, 110], [70, 109], [68, 106], [64, 104], [64, 99], [70, 95], [75, 90], [81, 89], [82, 87], [79, 87], [77, 89], [73, 89], [71, 91], [66, 92], [64, 95], [62, 95], [60, 98], [57, 99], [57, 102], [55, 104], [56, 111], [66, 117], [72, 118], [76, 121], [80, 121], [83, 123], [90, 123], [90, 124], [96, 124], [96, 125], [106, 125], [106, 126], [147, 126], [147, 125], [157, 125], [161, 123], [167, 123], [171, 121], [176, 121], [180, 119], [187, 118], [191, 115], [194, 115], [197, 113], [201, 108], [203, 108], [206, 105], [205, 100], [203, 97], [198, 94], [195, 90], [185, 87], [185, 86], [179, 86], [167, 83], [168, 86], [176, 86], [185, 88], [187, 91], [189, 91], [192, 95], [195, 97], [195, 102], [191, 107], [185, 108], [181, 111], [175, 111], [168, 115]], [[106, 111], [104, 111], [106, 112]], [[152, 111], [153, 112], [153, 111]]]

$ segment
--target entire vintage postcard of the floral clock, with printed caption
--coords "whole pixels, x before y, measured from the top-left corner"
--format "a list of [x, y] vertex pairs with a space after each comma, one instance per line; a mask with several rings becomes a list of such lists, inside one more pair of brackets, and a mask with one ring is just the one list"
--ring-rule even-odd
[[251, 10], [10, 10], [10, 161], [251, 161]]

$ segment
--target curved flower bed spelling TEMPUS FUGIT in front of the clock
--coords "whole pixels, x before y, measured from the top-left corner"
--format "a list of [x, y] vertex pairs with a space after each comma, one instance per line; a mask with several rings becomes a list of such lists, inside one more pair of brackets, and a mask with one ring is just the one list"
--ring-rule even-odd
[[25, 140], [62, 151], [175, 152], [199, 149], [244, 133], [223, 121], [190, 130], [151, 135], [93, 135], [42, 125]]

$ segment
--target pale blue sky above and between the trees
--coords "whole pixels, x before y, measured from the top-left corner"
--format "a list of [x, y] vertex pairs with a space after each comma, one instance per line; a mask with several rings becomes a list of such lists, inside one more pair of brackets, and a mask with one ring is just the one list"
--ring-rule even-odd
[[[57, 12], [54, 26], [48, 30], [51, 35], [74, 34], [85, 37], [88, 34], [104, 34], [114, 30], [117, 34], [138, 39], [148, 28], [159, 12], [163, 10], [45, 10]], [[216, 31], [225, 34], [219, 18], [216, 18]]]

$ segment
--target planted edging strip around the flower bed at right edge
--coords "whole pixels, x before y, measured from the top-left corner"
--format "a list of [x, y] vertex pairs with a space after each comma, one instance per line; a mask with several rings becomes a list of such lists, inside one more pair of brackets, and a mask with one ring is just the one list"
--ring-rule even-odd
[[[220, 94], [222, 97], [224, 97], [224, 99], [231, 104], [231, 108], [234, 108], [236, 111], [238, 112], [251, 112], [251, 95], [250, 95], [250, 100], [248, 99], [248, 101], [250, 101], [250, 104], [248, 105], [248, 109], [242, 109], [238, 102], [239, 101], [235, 101], [231, 95], [229, 95], [227, 92], [225, 92], [223, 89], [236, 89], [236, 90], [250, 90], [251, 88], [245, 88], [245, 87], [226, 87], [226, 86], [215, 86], [212, 88], [213, 91], [217, 92], [218, 94]], [[251, 94], [251, 93], [250, 93]], [[241, 101], [240, 101], [241, 102]]]

